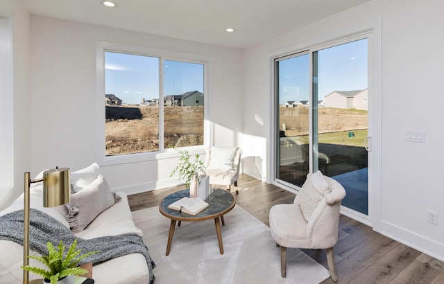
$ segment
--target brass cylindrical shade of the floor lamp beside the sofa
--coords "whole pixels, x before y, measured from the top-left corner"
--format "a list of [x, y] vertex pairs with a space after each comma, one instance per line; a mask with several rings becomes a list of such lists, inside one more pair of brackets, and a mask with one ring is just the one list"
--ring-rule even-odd
[[71, 201], [69, 168], [43, 172], [43, 206], [55, 207]]

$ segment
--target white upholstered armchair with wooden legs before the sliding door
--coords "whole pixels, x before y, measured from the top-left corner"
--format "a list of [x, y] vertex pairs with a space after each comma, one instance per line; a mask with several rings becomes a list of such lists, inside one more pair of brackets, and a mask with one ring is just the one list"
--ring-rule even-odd
[[271, 236], [281, 252], [281, 274], [287, 274], [287, 247], [326, 249], [332, 281], [337, 282], [333, 246], [338, 240], [339, 211], [345, 190], [338, 181], [320, 171], [307, 175], [293, 204], [278, 204], [270, 210]]

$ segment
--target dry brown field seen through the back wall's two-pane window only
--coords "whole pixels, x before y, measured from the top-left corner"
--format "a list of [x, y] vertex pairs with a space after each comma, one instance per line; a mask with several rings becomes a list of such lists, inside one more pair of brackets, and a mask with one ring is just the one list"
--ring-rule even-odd
[[[106, 154], [159, 148], [157, 107], [106, 107]], [[164, 107], [164, 148], [203, 143], [203, 107]]]

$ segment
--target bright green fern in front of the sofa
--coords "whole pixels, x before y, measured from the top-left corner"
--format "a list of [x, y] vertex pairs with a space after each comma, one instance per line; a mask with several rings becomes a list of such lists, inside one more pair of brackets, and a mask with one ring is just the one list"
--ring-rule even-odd
[[99, 252], [99, 251], [90, 251], [87, 254], [80, 255], [81, 249], [76, 250], [77, 239], [75, 239], [74, 242], [69, 247], [66, 256], [64, 256], [64, 254], [65, 254], [65, 249], [67, 247], [63, 245], [63, 242], [61, 240], [57, 248], [54, 247], [51, 242], [46, 242], [46, 247], [48, 248], [49, 251], [48, 256], [31, 255], [28, 257], [33, 258], [39, 261], [40, 263], [43, 263], [44, 265], [46, 265], [46, 267], [48, 267], [48, 269], [35, 266], [31, 267], [30, 265], [22, 266], [22, 269], [43, 276], [44, 283], [51, 283], [51, 284], [56, 284], [58, 283], [58, 281], [69, 276], [72, 277], [74, 275], [81, 275], [87, 273], [86, 269], [78, 267], [78, 262], [87, 256], [91, 256]]

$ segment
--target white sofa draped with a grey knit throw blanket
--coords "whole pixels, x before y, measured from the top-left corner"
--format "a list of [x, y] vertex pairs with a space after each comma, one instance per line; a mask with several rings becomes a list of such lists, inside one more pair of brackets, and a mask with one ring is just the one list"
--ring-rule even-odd
[[[72, 175], [71, 175], [72, 184]], [[79, 238], [95, 238], [99, 236], [114, 236], [121, 233], [139, 233], [142, 231], [135, 227], [133, 215], [126, 194], [118, 192], [121, 199], [105, 211], [101, 212], [83, 231], [75, 233]], [[69, 228], [65, 219], [65, 208], [44, 208], [42, 195], [31, 190], [31, 208], [37, 208]], [[8, 208], [0, 211], [0, 216], [23, 208], [23, 195]], [[1, 225], [1, 224], [0, 224]], [[0, 283], [22, 283], [23, 246], [9, 240], [0, 240]], [[31, 251], [31, 254], [36, 254]], [[42, 266], [30, 259], [30, 265]], [[29, 273], [30, 280], [41, 278]], [[92, 267], [92, 278], [95, 283], [148, 283], [149, 271], [146, 260], [142, 254], [128, 254], [107, 260]]]

